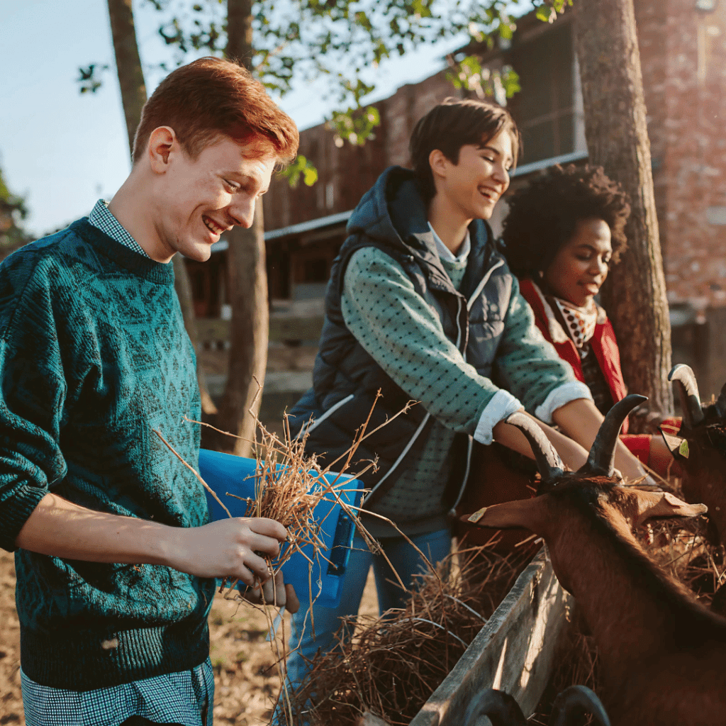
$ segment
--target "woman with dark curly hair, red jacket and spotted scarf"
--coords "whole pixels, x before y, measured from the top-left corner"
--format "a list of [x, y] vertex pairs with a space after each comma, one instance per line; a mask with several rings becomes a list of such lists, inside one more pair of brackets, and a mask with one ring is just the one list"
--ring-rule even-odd
[[[627, 394], [613, 326], [595, 295], [625, 250], [627, 195], [601, 166], [553, 166], [507, 198], [502, 241], [534, 320], [603, 415]], [[672, 456], [661, 436], [627, 434], [624, 444], [664, 473]]]

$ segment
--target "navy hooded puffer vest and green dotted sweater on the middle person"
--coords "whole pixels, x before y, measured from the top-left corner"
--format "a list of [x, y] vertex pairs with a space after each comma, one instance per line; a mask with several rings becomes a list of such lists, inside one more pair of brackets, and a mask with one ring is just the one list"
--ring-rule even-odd
[[[351, 469], [378, 460], [364, 476], [366, 507], [407, 534], [446, 526], [474, 436], [490, 443], [492, 426], [521, 406], [542, 414], [546, 402], [589, 395], [535, 327], [489, 225], [475, 220], [469, 233], [468, 256], [442, 260], [412, 172], [380, 176], [348, 221], [314, 386], [291, 412], [308, 450], [332, 461], [377, 391], [369, 431], [417, 401], [362, 443]], [[395, 534], [372, 518], [367, 525]]]

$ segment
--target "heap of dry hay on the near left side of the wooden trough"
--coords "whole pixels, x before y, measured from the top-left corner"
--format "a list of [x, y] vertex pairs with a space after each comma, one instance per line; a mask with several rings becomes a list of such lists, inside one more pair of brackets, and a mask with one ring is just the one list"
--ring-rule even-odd
[[293, 695], [293, 722], [353, 726], [372, 712], [407, 724], [509, 592], [524, 559], [486, 546], [455, 552], [421, 576], [406, 608], [343, 619], [338, 648], [311, 661]]

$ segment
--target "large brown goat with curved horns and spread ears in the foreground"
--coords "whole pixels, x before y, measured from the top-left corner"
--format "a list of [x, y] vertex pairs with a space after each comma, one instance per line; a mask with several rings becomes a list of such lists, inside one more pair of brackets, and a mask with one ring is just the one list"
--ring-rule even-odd
[[726, 619], [696, 603], [653, 564], [632, 528], [648, 518], [696, 516], [666, 492], [619, 486], [613, 455], [619, 428], [643, 396], [619, 401], [600, 428], [587, 464], [566, 473], [537, 426], [508, 423], [529, 439], [544, 492], [469, 516], [480, 526], [526, 527], [550, 550], [560, 583], [575, 597], [597, 643], [603, 702], [613, 726], [726, 724]]

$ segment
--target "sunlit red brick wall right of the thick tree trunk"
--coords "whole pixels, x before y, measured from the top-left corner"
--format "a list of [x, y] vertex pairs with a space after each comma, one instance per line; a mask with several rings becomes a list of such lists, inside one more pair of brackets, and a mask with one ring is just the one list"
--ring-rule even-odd
[[726, 7], [637, 0], [671, 303], [726, 306]]

